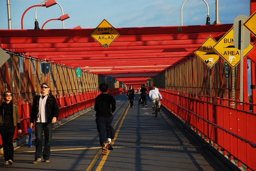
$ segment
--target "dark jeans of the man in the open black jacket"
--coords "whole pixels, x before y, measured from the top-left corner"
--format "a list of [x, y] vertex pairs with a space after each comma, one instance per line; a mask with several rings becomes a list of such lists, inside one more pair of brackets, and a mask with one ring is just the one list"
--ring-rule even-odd
[[[50, 158], [51, 140], [52, 140], [52, 123], [35, 123], [35, 159]], [[44, 131], [44, 151], [43, 150], [43, 131]], [[43, 155], [42, 155], [43, 153]]]

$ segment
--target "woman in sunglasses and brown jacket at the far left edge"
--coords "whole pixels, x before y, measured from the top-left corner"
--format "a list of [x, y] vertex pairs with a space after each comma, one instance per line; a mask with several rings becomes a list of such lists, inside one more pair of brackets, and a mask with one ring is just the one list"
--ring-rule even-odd
[[4, 165], [13, 164], [13, 137], [15, 134], [15, 126], [20, 129], [19, 107], [12, 99], [12, 93], [5, 91], [0, 101], [0, 134], [3, 142], [3, 155], [6, 162]]

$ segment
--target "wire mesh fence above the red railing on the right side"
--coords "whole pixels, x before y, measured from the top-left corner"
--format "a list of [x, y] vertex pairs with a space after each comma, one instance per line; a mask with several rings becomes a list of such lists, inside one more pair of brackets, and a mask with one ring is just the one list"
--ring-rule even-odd
[[[158, 86], [160, 88], [239, 100], [239, 78], [240, 64], [232, 68], [220, 59], [212, 68], [209, 68], [202, 60], [195, 57], [157, 75], [153, 80], [157, 85], [161, 85]], [[163, 85], [163, 80], [166, 80], [166, 87]]]

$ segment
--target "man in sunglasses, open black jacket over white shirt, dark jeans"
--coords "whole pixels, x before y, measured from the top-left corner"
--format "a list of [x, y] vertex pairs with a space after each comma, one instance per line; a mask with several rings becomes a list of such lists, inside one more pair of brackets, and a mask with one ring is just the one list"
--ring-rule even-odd
[[[35, 123], [35, 160], [37, 164], [42, 161], [50, 162], [50, 149], [52, 140], [52, 128], [58, 120], [58, 104], [55, 97], [49, 93], [48, 83], [41, 84], [41, 93], [33, 99], [30, 114], [30, 128]], [[44, 131], [44, 149], [43, 149], [43, 131]]]

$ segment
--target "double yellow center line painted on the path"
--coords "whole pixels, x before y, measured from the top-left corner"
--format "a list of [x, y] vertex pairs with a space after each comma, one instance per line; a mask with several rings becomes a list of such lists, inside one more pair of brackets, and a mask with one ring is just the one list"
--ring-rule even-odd
[[[123, 123], [123, 121], [124, 121], [124, 119], [125, 119], [125, 116], [126, 116], [126, 114], [127, 114], [127, 112], [128, 112], [128, 105], [129, 105], [129, 103], [127, 103], [126, 104], [126, 111], [125, 111], [125, 108], [124, 108], [124, 110], [122, 111], [122, 113], [121, 113], [121, 115], [120, 115], [120, 117], [118, 118], [118, 120], [116, 121], [116, 123], [115, 123], [115, 125], [114, 125], [114, 129], [116, 128], [116, 125], [119, 123], [119, 120], [121, 120], [121, 122], [119, 123], [119, 127], [117, 128], [117, 130], [116, 130], [116, 134], [115, 134], [115, 140], [116, 140], [116, 138], [117, 138], [117, 136], [118, 136], [118, 134], [119, 134], [119, 130], [120, 130], [120, 128], [121, 128], [121, 126], [122, 126], [122, 123]], [[125, 111], [125, 114], [124, 114], [124, 116], [122, 117], [122, 114], [124, 113], [124, 111]], [[113, 140], [111, 143], [112, 143], [112, 145], [115, 143], [115, 140]], [[97, 154], [96, 154], [96, 156], [94, 157], [94, 159], [93, 159], [93, 161], [90, 163], [90, 165], [88, 166], [88, 168], [86, 169], [86, 171], [91, 171], [92, 170], [92, 168], [93, 168], [93, 166], [95, 165], [95, 163], [96, 163], [96, 161], [98, 160], [98, 158], [99, 158], [99, 155], [98, 154], [100, 154], [101, 153], [101, 151], [102, 151], [102, 149], [100, 149], [98, 152], [97, 152]], [[109, 151], [109, 153], [110, 153], [110, 151]], [[108, 154], [109, 154], [108, 153]], [[107, 158], [108, 158], [108, 154], [106, 154], [105, 156], [103, 156], [102, 157], [102, 160], [101, 160], [101, 162], [99, 163], [99, 166], [97, 167], [97, 171], [101, 171], [101, 169], [102, 169], [102, 167], [103, 167], [103, 165], [105, 164], [105, 161], [107, 160]]]

